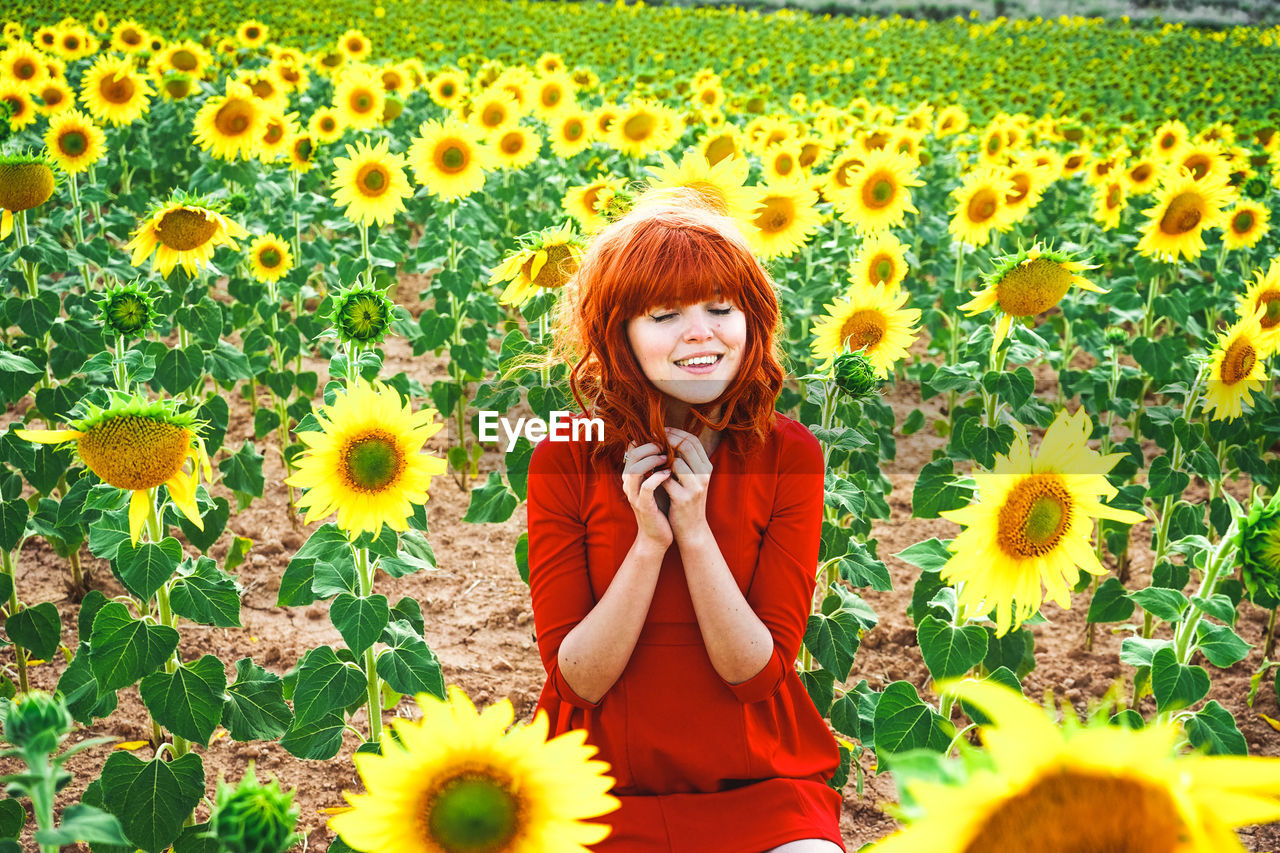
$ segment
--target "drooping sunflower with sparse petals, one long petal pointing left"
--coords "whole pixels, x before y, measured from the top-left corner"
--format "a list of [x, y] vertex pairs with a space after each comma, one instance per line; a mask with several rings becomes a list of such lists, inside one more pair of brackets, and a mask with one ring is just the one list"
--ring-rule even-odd
[[[76, 442], [81, 460], [104, 483], [133, 492], [129, 501], [129, 540], [138, 534], [155, 511], [151, 489], [164, 485], [174, 502], [196, 528], [204, 530], [196, 506], [200, 470], [212, 476], [204, 442], [197, 438], [200, 423], [178, 414], [170, 401], [147, 401], [111, 391], [110, 405], [100, 409], [87, 403], [88, 414], [70, 421], [70, 429], [19, 429], [19, 438], [37, 444]], [[191, 473], [186, 469], [192, 461]]]

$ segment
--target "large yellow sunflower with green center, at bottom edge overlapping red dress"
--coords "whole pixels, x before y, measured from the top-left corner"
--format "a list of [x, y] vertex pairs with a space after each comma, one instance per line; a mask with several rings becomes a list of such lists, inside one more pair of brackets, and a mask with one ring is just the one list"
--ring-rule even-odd
[[352, 761], [364, 794], [329, 827], [356, 850], [406, 853], [588, 853], [609, 834], [588, 818], [618, 807], [608, 765], [581, 729], [547, 739], [547, 715], [511, 727], [503, 699], [477, 712], [456, 686], [419, 694], [422, 719], [392, 721], [383, 752]]

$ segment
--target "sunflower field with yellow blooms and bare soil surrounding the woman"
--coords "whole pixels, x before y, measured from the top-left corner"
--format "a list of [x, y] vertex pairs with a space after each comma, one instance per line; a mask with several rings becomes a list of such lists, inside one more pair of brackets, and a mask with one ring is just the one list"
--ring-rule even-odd
[[527, 365], [654, 187], [778, 287], [846, 847], [1276, 849], [1277, 49], [10, 4], [0, 853], [602, 839], [608, 766], [534, 717], [534, 442], [480, 412], [575, 409]]

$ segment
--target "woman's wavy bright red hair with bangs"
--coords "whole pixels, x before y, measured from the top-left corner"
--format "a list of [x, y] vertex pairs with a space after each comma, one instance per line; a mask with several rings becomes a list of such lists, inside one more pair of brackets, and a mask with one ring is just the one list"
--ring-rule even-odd
[[[584, 412], [604, 421], [596, 460], [617, 460], [628, 443], [655, 442], [664, 397], [631, 350], [627, 324], [654, 306], [730, 300], [746, 316], [737, 375], [714, 401], [690, 406], [684, 429], [727, 430], [749, 453], [768, 438], [783, 371], [777, 347], [778, 297], [733, 219], [707, 207], [698, 191], [650, 190], [591, 241], [568, 282], [556, 350], [570, 365], [570, 388]], [[712, 412], [721, 409], [718, 418]]]

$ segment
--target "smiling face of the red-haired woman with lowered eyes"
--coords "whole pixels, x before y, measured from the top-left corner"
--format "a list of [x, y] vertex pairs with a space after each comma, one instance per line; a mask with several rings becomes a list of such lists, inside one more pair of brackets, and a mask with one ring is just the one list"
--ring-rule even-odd
[[746, 315], [719, 297], [659, 305], [627, 323], [627, 338], [658, 391], [685, 403], [708, 403], [724, 392], [742, 364]]

